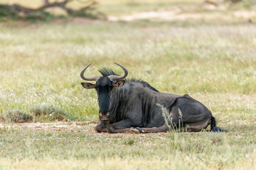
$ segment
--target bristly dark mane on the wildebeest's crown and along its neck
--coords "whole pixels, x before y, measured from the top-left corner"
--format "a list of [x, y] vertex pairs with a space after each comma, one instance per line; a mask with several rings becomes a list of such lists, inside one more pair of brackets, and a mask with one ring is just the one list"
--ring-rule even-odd
[[[103, 67], [101, 69], [98, 70], [100, 72], [100, 74], [102, 74], [103, 77], [107, 77], [110, 75], [117, 75], [119, 76], [119, 74], [116, 74], [112, 69], [108, 69], [106, 67]], [[146, 86], [147, 88], [153, 90], [153, 91], [157, 91], [158, 90], [154, 89], [154, 87], [150, 86], [150, 84], [148, 84], [146, 81], [143, 81], [142, 79], [136, 79], [136, 78], [132, 78], [132, 79], [123, 79], [126, 82], [138, 82], [140, 84], [142, 84], [143, 86]]]

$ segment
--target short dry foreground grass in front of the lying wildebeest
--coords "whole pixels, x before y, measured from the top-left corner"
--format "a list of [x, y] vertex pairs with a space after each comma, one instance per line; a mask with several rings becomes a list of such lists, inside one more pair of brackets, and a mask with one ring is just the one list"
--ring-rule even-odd
[[174, 138], [88, 134], [91, 128], [1, 129], [0, 168], [255, 169], [255, 125], [243, 132], [181, 132]]

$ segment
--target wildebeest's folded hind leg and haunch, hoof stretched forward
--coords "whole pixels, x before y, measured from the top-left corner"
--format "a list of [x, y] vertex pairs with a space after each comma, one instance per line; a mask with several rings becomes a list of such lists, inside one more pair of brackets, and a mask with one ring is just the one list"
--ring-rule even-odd
[[[169, 129], [199, 132], [210, 125], [210, 111], [200, 102], [189, 97], [177, 98], [167, 118], [168, 125], [159, 128], [134, 128], [139, 132], [167, 132]], [[168, 127], [169, 126], [169, 127]]]

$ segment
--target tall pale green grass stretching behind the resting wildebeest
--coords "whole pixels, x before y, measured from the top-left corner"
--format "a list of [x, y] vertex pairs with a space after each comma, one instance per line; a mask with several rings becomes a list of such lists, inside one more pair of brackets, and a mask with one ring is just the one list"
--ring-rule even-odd
[[30, 111], [38, 103], [48, 103], [96, 120], [96, 93], [82, 89], [79, 76], [90, 62], [87, 76], [99, 75], [97, 69], [103, 66], [122, 73], [113, 64], [118, 62], [127, 67], [130, 78], [142, 78], [162, 92], [255, 98], [253, 28], [70, 23], [17, 29], [2, 25], [0, 111]]

